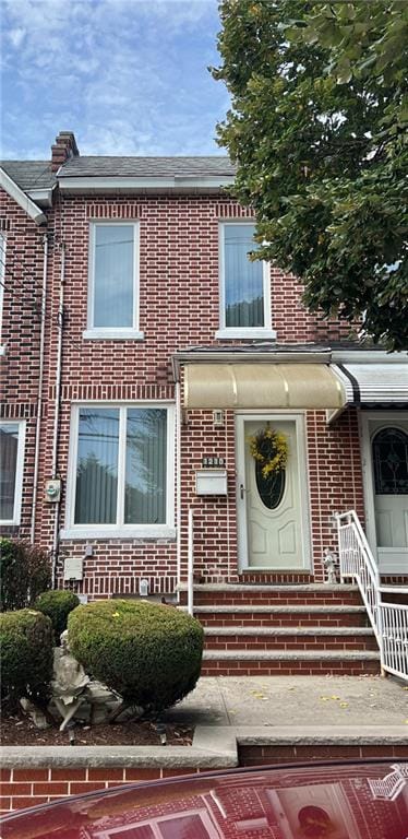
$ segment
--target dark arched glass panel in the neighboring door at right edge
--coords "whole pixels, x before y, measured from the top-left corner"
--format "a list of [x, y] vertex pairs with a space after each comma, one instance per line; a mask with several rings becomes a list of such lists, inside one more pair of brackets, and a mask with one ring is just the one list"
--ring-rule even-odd
[[372, 447], [376, 495], [408, 494], [408, 435], [399, 428], [383, 428]]

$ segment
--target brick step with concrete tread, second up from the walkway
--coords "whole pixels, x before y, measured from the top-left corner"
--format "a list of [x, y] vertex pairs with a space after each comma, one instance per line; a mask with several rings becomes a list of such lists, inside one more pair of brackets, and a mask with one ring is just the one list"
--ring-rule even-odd
[[377, 650], [367, 627], [206, 626], [206, 650]]

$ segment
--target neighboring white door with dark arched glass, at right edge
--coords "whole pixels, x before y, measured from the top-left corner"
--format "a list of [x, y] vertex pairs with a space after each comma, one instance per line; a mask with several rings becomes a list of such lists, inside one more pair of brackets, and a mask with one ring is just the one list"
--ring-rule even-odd
[[368, 536], [382, 574], [408, 571], [408, 416], [363, 417]]

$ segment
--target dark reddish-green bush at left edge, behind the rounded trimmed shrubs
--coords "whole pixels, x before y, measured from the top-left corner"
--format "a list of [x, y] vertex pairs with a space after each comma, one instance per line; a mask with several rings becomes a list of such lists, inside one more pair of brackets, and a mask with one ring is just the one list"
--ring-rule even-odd
[[9, 611], [32, 605], [51, 584], [46, 551], [20, 539], [0, 539], [0, 608]]

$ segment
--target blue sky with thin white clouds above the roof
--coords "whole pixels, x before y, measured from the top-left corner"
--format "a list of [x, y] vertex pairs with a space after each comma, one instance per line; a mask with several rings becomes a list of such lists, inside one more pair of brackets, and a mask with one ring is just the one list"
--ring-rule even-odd
[[223, 154], [217, 0], [0, 0], [3, 159]]

